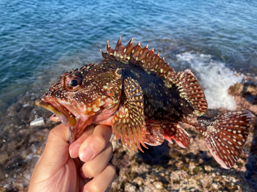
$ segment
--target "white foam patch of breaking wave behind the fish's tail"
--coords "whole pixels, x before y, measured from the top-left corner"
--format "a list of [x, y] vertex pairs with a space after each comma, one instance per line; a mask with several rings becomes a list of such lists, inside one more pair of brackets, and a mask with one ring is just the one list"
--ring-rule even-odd
[[228, 94], [228, 89], [233, 84], [241, 82], [243, 75], [236, 76], [223, 62], [213, 60], [211, 55], [186, 52], [176, 57], [181, 65], [188, 66], [189, 63], [191, 70], [198, 73], [195, 76], [204, 89], [209, 109], [235, 109], [236, 102]]

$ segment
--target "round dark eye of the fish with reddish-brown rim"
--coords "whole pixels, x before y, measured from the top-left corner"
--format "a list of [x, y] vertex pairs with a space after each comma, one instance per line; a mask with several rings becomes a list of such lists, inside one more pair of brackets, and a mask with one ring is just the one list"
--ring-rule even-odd
[[77, 73], [71, 73], [65, 76], [65, 88], [67, 91], [76, 91], [82, 86], [82, 76]]

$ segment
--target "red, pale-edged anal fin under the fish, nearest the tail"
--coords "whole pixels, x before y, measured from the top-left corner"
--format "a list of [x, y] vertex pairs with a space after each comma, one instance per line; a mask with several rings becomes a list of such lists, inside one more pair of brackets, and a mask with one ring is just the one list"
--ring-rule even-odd
[[174, 139], [180, 147], [189, 147], [190, 137], [188, 133], [179, 124], [164, 123], [162, 127], [164, 131], [164, 137], [170, 143], [173, 143], [171, 139]]

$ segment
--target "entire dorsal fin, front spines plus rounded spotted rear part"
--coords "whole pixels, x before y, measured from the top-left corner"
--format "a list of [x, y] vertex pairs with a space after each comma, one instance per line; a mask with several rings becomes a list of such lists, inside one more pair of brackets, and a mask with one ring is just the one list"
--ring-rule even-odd
[[133, 39], [131, 39], [124, 47], [120, 37], [114, 50], [107, 41], [106, 53], [101, 51], [101, 54], [104, 59], [130, 62], [154, 72], [159, 77], [164, 78], [169, 87], [173, 87], [175, 84], [181, 97], [190, 101], [197, 116], [203, 115], [207, 111], [208, 104], [203, 89], [201, 89], [194, 74], [189, 69], [175, 73], [169, 67], [169, 63], [164, 61], [164, 57], [160, 58], [159, 53], [154, 53], [154, 49], [150, 51], [148, 45], [142, 48], [138, 42], [134, 46]]

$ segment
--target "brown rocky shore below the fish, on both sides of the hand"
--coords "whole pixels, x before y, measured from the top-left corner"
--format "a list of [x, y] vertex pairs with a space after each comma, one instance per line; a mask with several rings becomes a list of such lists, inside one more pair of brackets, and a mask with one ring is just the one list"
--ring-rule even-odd
[[[236, 110], [253, 114], [251, 130], [242, 157], [231, 169], [222, 168], [211, 156], [200, 134], [184, 127], [191, 145], [184, 149], [165, 141], [149, 146], [145, 153], [128, 150], [112, 137], [111, 163], [118, 178], [112, 191], [257, 191], [257, 79], [245, 77], [244, 83], [230, 87]], [[27, 191], [33, 167], [42, 154], [49, 131], [59, 123], [31, 127], [34, 115], [44, 110], [34, 101], [40, 90], [27, 93], [10, 105], [0, 119], [0, 191]], [[206, 116], [226, 113], [208, 110]], [[48, 112], [47, 112], [48, 113]]]

